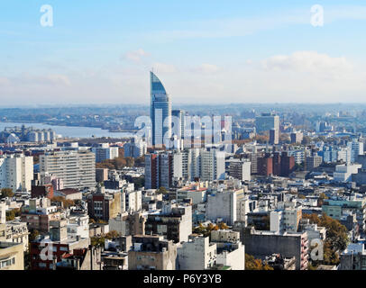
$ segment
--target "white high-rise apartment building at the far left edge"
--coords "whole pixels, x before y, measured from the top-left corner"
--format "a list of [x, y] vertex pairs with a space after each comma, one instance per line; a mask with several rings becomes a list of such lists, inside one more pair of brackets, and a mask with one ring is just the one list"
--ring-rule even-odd
[[0, 157], [0, 188], [13, 191], [31, 191], [33, 180], [33, 157], [5, 155]]

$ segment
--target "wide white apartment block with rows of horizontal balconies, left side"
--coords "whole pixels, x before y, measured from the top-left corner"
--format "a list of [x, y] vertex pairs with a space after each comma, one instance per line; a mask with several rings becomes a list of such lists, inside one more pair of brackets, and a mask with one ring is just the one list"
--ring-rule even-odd
[[46, 153], [40, 157], [40, 172], [61, 179], [64, 188], [95, 188], [96, 155], [89, 151]]

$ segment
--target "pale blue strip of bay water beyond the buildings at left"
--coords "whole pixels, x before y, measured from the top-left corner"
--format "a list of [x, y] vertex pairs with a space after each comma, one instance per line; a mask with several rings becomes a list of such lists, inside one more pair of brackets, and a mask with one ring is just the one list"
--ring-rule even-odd
[[42, 123], [21, 123], [21, 122], [1, 122], [0, 121], [0, 131], [5, 130], [5, 127], [33, 127], [35, 129], [52, 129], [56, 134], [62, 137], [68, 138], [101, 138], [101, 137], [111, 137], [111, 138], [126, 138], [133, 136], [132, 133], [128, 132], [110, 132], [108, 130], [103, 130], [100, 128], [93, 127], [76, 127], [76, 126], [57, 126], [48, 125]]

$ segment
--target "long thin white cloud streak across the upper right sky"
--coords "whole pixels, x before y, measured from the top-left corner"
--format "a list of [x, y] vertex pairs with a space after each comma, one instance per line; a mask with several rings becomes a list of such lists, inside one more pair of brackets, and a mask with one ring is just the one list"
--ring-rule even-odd
[[[270, 31], [292, 25], [311, 27], [312, 4], [301, 9], [283, 10], [275, 14], [259, 14], [252, 17], [221, 18], [208, 21], [171, 23], [169, 29], [143, 33], [149, 40], [188, 40], [244, 37], [260, 31]], [[345, 20], [366, 20], [365, 5], [324, 6], [325, 25]], [[181, 29], [180, 27], [187, 27]]]

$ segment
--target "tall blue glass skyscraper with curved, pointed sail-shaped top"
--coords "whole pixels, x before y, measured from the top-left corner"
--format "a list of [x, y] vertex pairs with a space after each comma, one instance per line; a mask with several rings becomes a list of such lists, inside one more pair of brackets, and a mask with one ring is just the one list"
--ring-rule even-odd
[[153, 72], [150, 76], [152, 145], [161, 147], [171, 137], [171, 102], [159, 78]]

